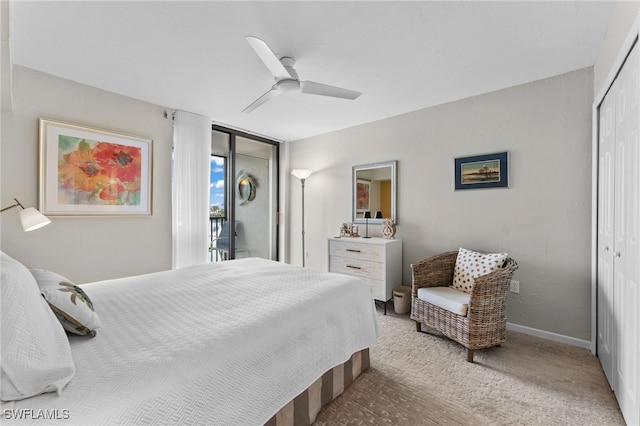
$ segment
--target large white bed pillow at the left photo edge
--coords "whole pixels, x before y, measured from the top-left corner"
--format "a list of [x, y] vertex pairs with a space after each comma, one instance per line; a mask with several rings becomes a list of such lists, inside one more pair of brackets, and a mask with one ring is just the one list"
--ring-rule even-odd
[[67, 335], [24, 265], [0, 252], [0, 269], [0, 399], [60, 394], [75, 374]]

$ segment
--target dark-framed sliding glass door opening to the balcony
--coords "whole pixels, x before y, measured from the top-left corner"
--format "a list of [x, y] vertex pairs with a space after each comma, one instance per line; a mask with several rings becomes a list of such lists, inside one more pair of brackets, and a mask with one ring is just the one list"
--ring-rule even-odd
[[278, 157], [277, 142], [214, 126], [211, 262], [239, 257], [278, 260]]

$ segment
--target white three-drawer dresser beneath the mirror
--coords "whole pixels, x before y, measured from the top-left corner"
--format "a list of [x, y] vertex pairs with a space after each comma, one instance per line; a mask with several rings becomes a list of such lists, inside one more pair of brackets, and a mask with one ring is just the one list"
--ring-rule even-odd
[[373, 287], [373, 298], [386, 302], [402, 285], [402, 240], [384, 238], [329, 238], [329, 272], [363, 278]]

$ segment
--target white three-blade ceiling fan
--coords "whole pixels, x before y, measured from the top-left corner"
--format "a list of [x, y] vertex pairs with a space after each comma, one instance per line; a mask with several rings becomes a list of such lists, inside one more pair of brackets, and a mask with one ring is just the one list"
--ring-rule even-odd
[[276, 83], [267, 93], [253, 101], [253, 103], [243, 109], [242, 112], [251, 112], [269, 99], [287, 92], [301, 92], [310, 95], [322, 95], [350, 100], [354, 100], [362, 94], [354, 90], [329, 86], [328, 84], [316, 83], [315, 81], [300, 81], [298, 73], [293, 69], [296, 63], [295, 59], [289, 56], [278, 59], [264, 41], [252, 36], [246, 36], [245, 38], [269, 71], [271, 71]]

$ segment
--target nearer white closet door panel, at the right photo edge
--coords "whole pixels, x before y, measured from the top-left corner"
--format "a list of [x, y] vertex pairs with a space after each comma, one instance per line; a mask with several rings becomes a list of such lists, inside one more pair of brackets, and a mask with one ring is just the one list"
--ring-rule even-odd
[[628, 424], [640, 422], [640, 109], [638, 46], [616, 79], [614, 321], [616, 356], [614, 392]]

